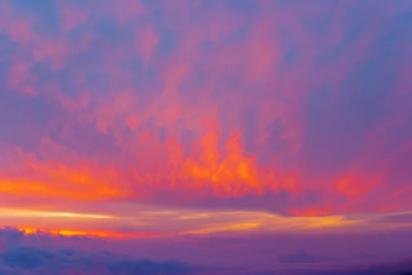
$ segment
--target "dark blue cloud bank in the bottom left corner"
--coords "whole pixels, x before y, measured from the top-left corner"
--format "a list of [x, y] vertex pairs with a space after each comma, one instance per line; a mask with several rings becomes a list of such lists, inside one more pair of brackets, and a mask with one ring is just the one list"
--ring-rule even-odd
[[[130, 256], [81, 250], [45, 250], [41, 248], [10, 248], [1, 256], [4, 274], [141, 274], [180, 275], [192, 267], [179, 261], [155, 262]], [[1, 273], [3, 275], [3, 273]]]

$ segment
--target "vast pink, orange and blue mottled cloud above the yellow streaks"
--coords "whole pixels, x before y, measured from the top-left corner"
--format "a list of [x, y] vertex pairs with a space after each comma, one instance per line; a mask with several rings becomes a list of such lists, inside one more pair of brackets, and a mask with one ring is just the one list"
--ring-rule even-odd
[[0, 7], [2, 202], [411, 207], [410, 3], [22, 3]]

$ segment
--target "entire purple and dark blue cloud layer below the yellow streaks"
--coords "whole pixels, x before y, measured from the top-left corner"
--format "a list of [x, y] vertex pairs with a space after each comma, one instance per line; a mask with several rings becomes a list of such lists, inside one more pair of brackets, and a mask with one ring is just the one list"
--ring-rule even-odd
[[[399, 261], [408, 252], [398, 254], [411, 251], [408, 237], [410, 232], [102, 241], [41, 232], [27, 235], [7, 228], [0, 230], [0, 274], [398, 275], [412, 271], [409, 258]], [[366, 243], [374, 248], [363, 254], [373, 257], [361, 259], [356, 251], [367, 248]], [[288, 250], [293, 252], [285, 254]], [[333, 261], [319, 256], [332, 254]]]

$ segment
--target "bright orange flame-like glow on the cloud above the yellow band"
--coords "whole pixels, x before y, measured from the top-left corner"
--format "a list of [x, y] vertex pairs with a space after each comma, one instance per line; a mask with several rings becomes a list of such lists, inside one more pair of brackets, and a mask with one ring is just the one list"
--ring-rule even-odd
[[[150, 151], [137, 156], [141, 163], [137, 167], [103, 166], [85, 161], [68, 165], [58, 160], [30, 159], [21, 172], [25, 176], [0, 179], [0, 193], [102, 200], [144, 196], [142, 192], [133, 192], [139, 186], [209, 189], [223, 196], [262, 195], [265, 190], [296, 188], [296, 176], [276, 175], [276, 169], [262, 169], [255, 156], [245, 155], [240, 134], [233, 134], [220, 148], [218, 121], [211, 119], [205, 125], [204, 134], [194, 142], [189, 155], [183, 153], [182, 145], [174, 139], [163, 145], [155, 136], [144, 133], [142, 139]], [[162, 160], [159, 156], [163, 152], [168, 155]]]

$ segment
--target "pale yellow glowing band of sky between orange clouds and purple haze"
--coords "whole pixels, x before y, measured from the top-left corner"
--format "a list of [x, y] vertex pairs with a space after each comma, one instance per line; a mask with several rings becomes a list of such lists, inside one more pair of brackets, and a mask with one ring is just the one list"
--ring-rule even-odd
[[[27, 233], [36, 232], [36, 222], [27, 222], [25, 219], [47, 218], [42, 224], [54, 227], [58, 224], [59, 230], [43, 230], [58, 235], [92, 235], [98, 237], [139, 237], [139, 233], [114, 232], [115, 228], [131, 226], [133, 228], [152, 228], [166, 235], [207, 235], [218, 232], [304, 232], [313, 229], [348, 228], [367, 222], [367, 219], [358, 217], [347, 219], [341, 215], [330, 215], [322, 217], [284, 217], [264, 211], [190, 211], [185, 209], [149, 210], [139, 211], [138, 206], [130, 206], [129, 215], [117, 217], [115, 215], [98, 215], [88, 213], [69, 213], [52, 211], [30, 211], [23, 209], [0, 208], [0, 217], [16, 218], [16, 226], [23, 225], [23, 231]], [[133, 207], [137, 209], [133, 211]], [[56, 222], [54, 219], [58, 219]], [[21, 219], [21, 222], [18, 222]], [[67, 219], [67, 222], [65, 221]], [[85, 229], [71, 226], [73, 220], [89, 219]], [[93, 221], [93, 219], [96, 219]], [[100, 219], [101, 222], [98, 222]], [[16, 222], [17, 221], [17, 222]], [[54, 224], [54, 225], [53, 225]], [[4, 224], [6, 225], [6, 224]], [[1, 226], [1, 225], [0, 225]], [[104, 228], [104, 230], [100, 230]], [[165, 228], [165, 229], [163, 229]], [[172, 228], [172, 229], [168, 229]], [[165, 230], [165, 231], [163, 231]], [[151, 233], [146, 233], [150, 236]], [[163, 234], [164, 235], [164, 234]]]

